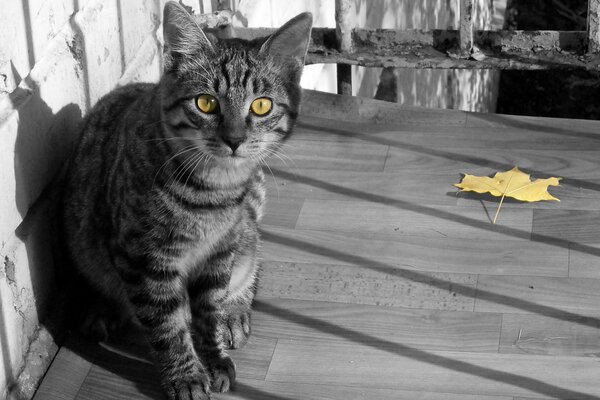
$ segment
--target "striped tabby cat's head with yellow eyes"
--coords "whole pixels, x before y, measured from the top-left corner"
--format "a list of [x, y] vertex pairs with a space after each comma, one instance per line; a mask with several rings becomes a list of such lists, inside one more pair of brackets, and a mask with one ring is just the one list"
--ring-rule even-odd
[[164, 10], [163, 120], [218, 162], [256, 163], [291, 133], [312, 16], [303, 13], [266, 38], [205, 34], [179, 4]]

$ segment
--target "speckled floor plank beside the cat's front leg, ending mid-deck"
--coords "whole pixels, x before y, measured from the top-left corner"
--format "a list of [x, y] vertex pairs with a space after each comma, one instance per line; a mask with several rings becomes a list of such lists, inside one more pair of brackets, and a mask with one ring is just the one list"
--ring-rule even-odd
[[264, 262], [258, 298], [472, 311], [476, 275]]

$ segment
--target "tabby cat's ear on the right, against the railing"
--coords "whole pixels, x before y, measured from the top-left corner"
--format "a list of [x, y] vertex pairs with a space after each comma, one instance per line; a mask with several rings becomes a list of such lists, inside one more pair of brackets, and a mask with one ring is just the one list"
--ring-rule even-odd
[[304, 65], [312, 22], [309, 12], [295, 16], [269, 36], [260, 51], [274, 57], [291, 58]]

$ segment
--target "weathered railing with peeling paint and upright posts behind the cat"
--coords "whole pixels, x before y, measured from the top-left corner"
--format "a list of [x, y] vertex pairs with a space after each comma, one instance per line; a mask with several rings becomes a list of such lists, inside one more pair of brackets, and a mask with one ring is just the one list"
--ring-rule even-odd
[[[351, 66], [600, 71], [600, 0], [589, 0], [587, 31], [475, 30], [474, 0], [460, 0], [456, 30], [360, 29], [354, 0], [335, 0], [335, 29], [314, 28], [307, 64], [337, 64], [338, 93], [352, 93]], [[254, 38], [269, 28], [236, 28]]]

